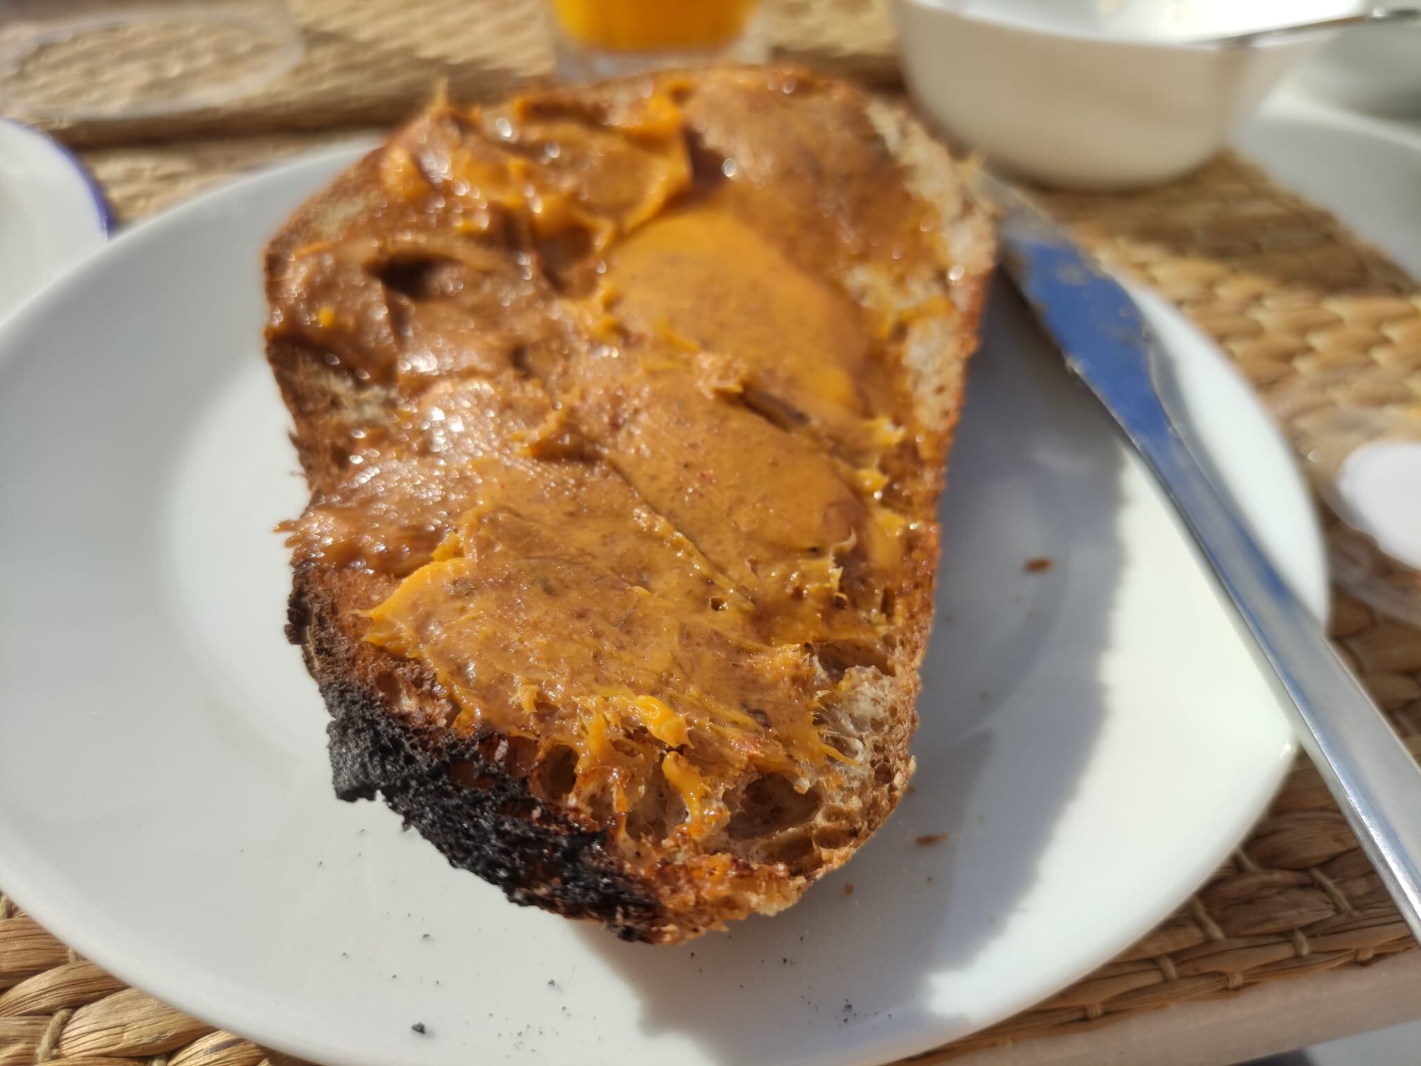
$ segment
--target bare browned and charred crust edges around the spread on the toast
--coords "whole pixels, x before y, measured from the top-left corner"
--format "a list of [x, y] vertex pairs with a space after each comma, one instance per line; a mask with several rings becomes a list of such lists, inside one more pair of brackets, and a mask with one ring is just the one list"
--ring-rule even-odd
[[[914, 119], [857, 90], [836, 91], [860, 102], [915, 192], [938, 205], [955, 260], [942, 267], [962, 267], [953, 287], [955, 313], [922, 324], [908, 345], [915, 399], [931, 436], [925, 451], [945, 458], [988, 289], [990, 229], [965, 196], [945, 151]], [[369, 200], [375, 159], [367, 156], [338, 178], [276, 236], [267, 252], [269, 287], [293, 249], [337, 232]], [[328, 483], [337, 461], [323, 426], [331, 412], [360, 401], [290, 338], [273, 335], [269, 360], [296, 419], [294, 441], [307, 478], [313, 488]], [[844, 715], [865, 733], [857, 739], [867, 766], [853, 789], [834, 797], [841, 841], [816, 849], [813, 861], [799, 868], [733, 858], [733, 885], [722, 888], [698, 881], [671, 857], [649, 870], [632, 868], [604, 827], [534, 796], [526, 775], [507, 765], [497, 733], [460, 739], [442, 728], [446, 701], [432, 678], [418, 664], [369, 645], [352, 618], [352, 607], [388, 594], [389, 578], [298, 566], [287, 634], [301, 648], [331, 714], [331, 765], [341, 799], [379, 793], [453, 866], [497, 884], [514, 903], [601, 921], [624, 940], [678, 942], [726, 920], [789, 905], [813, 880], [847, 861], [892, 812], [912, 770], [908, 741], [917, 725], [918, 664], [932, 621], [935, 559], [936, 536], [922, 537], [899, 594], [902, 621], [891, 671], [848, 667], [861, 684]], [[398, 688], [381, 684], [391, 674], [399, 677]], [[456, 783], [455, 768], [477, 780], [477, 787]]]

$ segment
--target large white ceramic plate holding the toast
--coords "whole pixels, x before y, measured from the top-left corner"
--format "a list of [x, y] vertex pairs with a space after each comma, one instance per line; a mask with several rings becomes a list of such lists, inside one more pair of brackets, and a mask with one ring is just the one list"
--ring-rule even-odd
[[[85, 955], [331, 1065], [868, 1063], [1108, 958], [1262, 809], [1293, 750], [1273, 689], [1154, 483], [1005, 294], [944, 505], [917, 790], [801, 904], [622, 944], [507, 904], [384, 806], [337, 802], [325, 712], [281, 635], [271, 526], [306, 489], [257, 269], [348, 159], [135, 229], [0, 337], [0, 884]], [[1285, 446], [1191, 328], [1152, 316], [1191, 432], [1320, 607]], [[1026, 573], [1040, 556], [1053, 567]]]

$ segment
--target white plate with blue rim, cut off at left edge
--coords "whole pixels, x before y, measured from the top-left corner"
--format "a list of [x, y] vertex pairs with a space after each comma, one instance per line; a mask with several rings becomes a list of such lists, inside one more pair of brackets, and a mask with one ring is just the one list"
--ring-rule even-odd
[[57, 141], [0, 118], [0, 321], [108, 239], [104, 193]]

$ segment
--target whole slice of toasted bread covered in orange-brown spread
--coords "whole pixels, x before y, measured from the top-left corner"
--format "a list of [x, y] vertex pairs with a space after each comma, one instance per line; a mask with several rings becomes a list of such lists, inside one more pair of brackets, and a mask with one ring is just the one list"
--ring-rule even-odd
[[789, 70], [441, 102], [304, 205], [267, 352], [337, 795], [649, 942], [847, 861], [912, 772], [992, 259], [915, 121]]

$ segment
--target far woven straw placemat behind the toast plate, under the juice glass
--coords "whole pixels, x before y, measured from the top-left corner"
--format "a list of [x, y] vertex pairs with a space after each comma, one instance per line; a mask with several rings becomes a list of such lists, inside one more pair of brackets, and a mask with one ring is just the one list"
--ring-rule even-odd
[[[328, 129], [394, 122], [441, 81], [449, 84], [456, 98], [473, 99], [551, 74], [541, 0], [290, 0], [290, 4], [304, 31], [306, 54], [254, 95], [161, 118], [45, 121], [38, 117], [36, 121], [84, 146]], [[764, 0], [762, 31], [782, 58], [831, 67], [865, 84], [897, 82], [892, 33], [882, 0]], [[165, 40], [163, 45], [171, 53], [180, 43]], [[166, 84], [178, 91], [183, 80], [220, 80], [225, 67], [243, 61], [240, 50], [223, 45], [220, 37], [212, 36], [206, 55], [185, 48], [182, 63], [165, 74]], [[105, 80], [134, 85], [136, 94], [152, 80], [132, 74], [119, 80], [114, 71], [152, 65], [155, 47], [152, 30], [144, 27], [57, 43], [9, 77], [0, 77], [0, 95], [9, 88], [41, 102], [85, 99], [92, 85]], [[171, 54], [163, 60], [173, 63]], [[105, 95], [107, 107], [119, 102]]]

